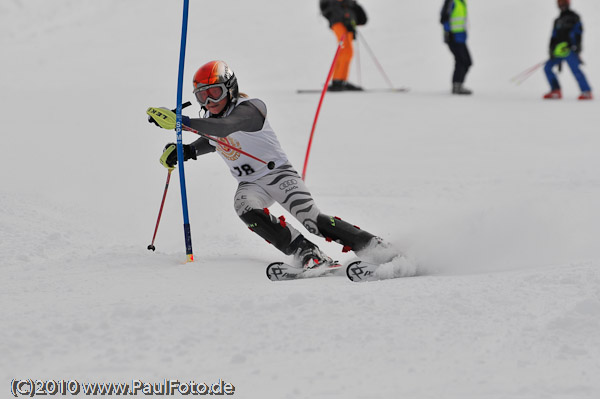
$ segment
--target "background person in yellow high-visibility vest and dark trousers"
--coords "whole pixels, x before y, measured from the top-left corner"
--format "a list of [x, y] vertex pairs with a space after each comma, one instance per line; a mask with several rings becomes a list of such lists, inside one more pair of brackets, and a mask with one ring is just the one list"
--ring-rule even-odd
[[444, 27], [444, 42], [454, 55], [452, 94], [472, 94], [464, 87], [465, 76], [473, 62], [467, 48], [467, 2], [466, 0], [445, 0], [440, 22]]

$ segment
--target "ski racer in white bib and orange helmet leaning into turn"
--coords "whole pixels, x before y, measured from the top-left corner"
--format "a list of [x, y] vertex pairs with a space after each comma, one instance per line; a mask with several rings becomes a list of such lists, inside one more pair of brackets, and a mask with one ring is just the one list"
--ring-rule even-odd
[[[278, 202], [311, 233], [343, 245], [343, 251], [354, 251], [361, 259], [386, 263], [396, 252], [381, 238], [361, 230], [337, 217], [321, 213], [300, 175], [288, 161], [275, 132], [267, 120], [266, 105], [257, 98], [239, 92], [237, 78], [223, 61], [211, 61], [194, 75], [194, 94], [202, 107], [200, 118], [182, 117], [184, 126], [213, 136], [217, 140], [248, 154], [274, 162], [269, 169], [214, 140], [204, 137], [183, 145], [184, 161], [218, 152], [238, 181], [234, 207], [250, 230], [273, 244], [294, 264], [313, 268], [333, 264], [317, 245], [309, 241], [283, 216], [275, 217], [269, 207]], [[175, 113], [164, 108], [149, 108], [147, 114], [160, 127], [175, 128]], [[166, 168], [177, 164], [176, 145], [166, 145], [160, 162]]]

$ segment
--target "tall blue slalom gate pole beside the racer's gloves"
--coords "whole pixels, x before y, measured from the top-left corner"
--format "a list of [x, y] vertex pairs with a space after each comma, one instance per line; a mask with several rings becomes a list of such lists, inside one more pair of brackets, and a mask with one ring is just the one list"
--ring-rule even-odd
[[181, 23], [181, 47], [179, 50], [179, 76], [177, 79], [177, 112], [175, 120], [175, 133], [177, 134], [177, 158], [179, 162], [179, 182], [181, 186], [181, 206], [183, 209], [183, 232], [185, 236], [185, 253], [187, 261], [194, 261], [192, 251], [192, 233], [190, 229], [190, 218], [187, 207], [187, 192], [185, 189], [185, 171], [183, 167], [183, 140], [182, 140], [182, 97], [183, 97], [183, 70], [185, 65], [185, 43], [187, 38], [187, 20], [188, 20], [189, 0], [183, 0], [183, 21]]

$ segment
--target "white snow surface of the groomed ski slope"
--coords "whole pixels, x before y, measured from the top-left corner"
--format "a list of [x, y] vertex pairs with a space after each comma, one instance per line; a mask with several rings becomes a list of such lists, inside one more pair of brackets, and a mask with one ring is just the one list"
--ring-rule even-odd
[[[470, 1], [465, 98], [449, 94], [441, 0], [363, 4], [364, 38], [411, 91], [328, 94], [307, 183], [419, 275], [355, 284], [267, 280], [283, 257], [238, 220], [217, 156], [186, 164], [196, 261], [183, 263], [176, 174], [146, 249], [175, 135], [145, 110], [175, 106], [181, 2], [2, 0], [3, 397], [13, 378], [223, 379], [239, 398], [600, 397], [598, 101], [575, 100], [568, 70], [562, 101], [540, 99], [541, 71], [509, 83], [546, 56], [555, 2]], [[573, 8], [600, 87], [600, 3]], [[198, 66], [225, 59], [301, 170], [318, 95], [295, 90], [321, 87], [334, 51], [316, 0], [191, 1], [184, 98]], [[356, 59], [353, 81], [386, 87], [364, 45]]]

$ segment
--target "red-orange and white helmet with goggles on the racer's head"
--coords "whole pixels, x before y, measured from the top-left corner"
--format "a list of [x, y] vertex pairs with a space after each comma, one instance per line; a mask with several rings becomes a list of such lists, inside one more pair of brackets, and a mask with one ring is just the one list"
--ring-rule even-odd
[[207, 62], [194, 74], [194, 94], [202, 106], [208, 101], [221, 101], [228, 94], [235, 103], [239, 96], [237, 78], [224, 61]]

